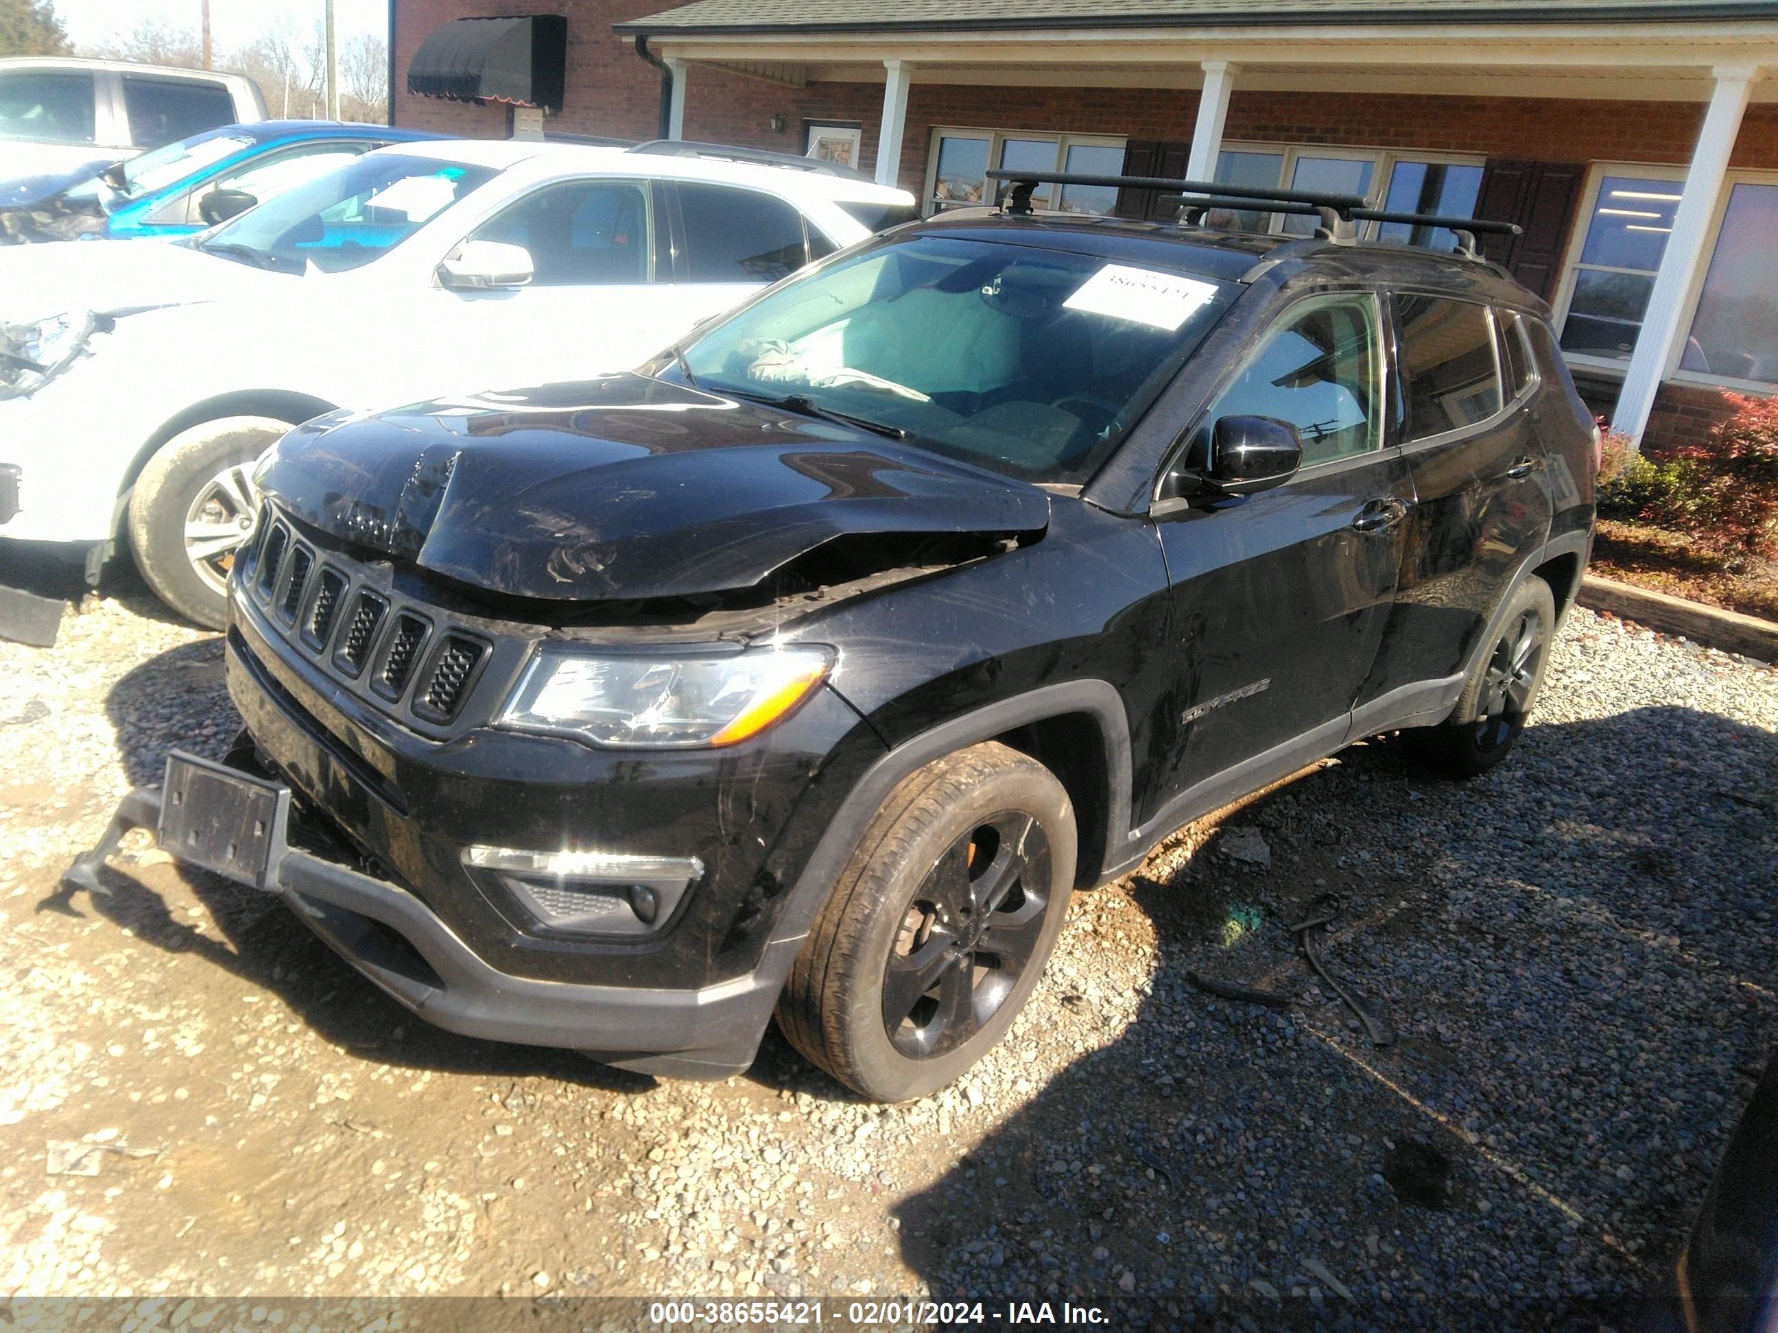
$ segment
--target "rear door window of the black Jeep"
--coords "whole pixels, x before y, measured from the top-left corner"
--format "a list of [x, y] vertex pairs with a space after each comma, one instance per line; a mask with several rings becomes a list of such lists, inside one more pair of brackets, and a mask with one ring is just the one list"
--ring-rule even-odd
[[1405, 441], [1486, 421], [1502, 405], [1501, 366], [1488, 307], [1444, 297], [1396, 297]]

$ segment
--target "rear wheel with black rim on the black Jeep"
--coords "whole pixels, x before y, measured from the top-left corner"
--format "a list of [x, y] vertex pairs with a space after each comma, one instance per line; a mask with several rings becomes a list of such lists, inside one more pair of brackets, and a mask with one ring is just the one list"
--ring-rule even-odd
[[1501, 627], [1451, 716], [1408, 732], [1421, 761], [1442, 777], [1463, 780], [1506, 759], [1538, 702], [1554, 638], [1556, 597], [1549, 583], [1529, 578], [1508, 597]]

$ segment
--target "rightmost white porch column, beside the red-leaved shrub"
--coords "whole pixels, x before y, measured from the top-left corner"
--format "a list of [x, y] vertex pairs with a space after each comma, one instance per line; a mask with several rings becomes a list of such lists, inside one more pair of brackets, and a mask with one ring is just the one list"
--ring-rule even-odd
[[1611, 416], [1613, 428], [1638, 443], [1648, 427], [1648, 412], [1655, 405], [1655, 393], [1673, 359], [1673, 348], [1686, 336], [1680, 325], [1686, 295], [1698, 268], [1709, 259], [1705, 240], [1716, 217], [1716, 204], [1723, 197], [1728, 155], [1735, 148], [1735, 135], [1741, 133], [1741, 114], [1748, 108], [1748, 94], [1760, 76], [1758, 69], [1741, 66], [1712, 73], [1716, 92], [1710, 94], [1710, 110], [1703, 117], [1698, 146], [1686, 169], [1686, 185], [1673, 213], [1673, 231], [1661, 256], [1661, 272], [1655, 274], [1654, 290], [1648, 293], [1648, 313], [1643, 315], [1630, 366], [1623, 373], [1618, 409]]

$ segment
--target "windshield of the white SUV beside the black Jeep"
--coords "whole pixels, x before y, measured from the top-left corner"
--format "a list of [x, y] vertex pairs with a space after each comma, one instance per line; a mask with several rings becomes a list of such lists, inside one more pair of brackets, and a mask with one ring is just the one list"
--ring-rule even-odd
[[491, 167], [368, 153], [204, 233], [213, 254], [286, 274], [357, 268], [388, 254], [469, 190]]

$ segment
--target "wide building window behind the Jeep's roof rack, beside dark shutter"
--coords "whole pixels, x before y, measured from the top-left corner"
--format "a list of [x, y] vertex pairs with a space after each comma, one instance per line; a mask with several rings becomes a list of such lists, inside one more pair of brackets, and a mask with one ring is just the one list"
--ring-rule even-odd
[[[1376, 148], [1296, 148], [1232, 144], [1216, 158], [1221, 185], [1261, 190], [1326, 190], [1382, 197], [1383, 208], [1399, 213], [1472, 217], [1481, 197], [1481, 158], [1426, 153], [1390, 153]], [[1378, 190], [1382, 185], [1382, 190]], [[1307, 236], [1316, 220], [1305, 213], [1237, 210], [1243, 231], [1282, 231]], [[1456, 249], [1456, 236], [1444, 227], [1414, 227], [1405, 222], [1369, 222], [1366, 238], [1394, 245]]]

